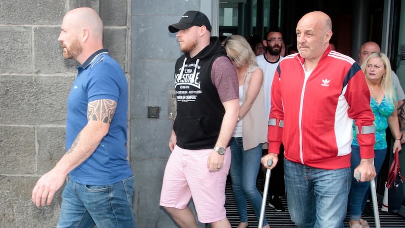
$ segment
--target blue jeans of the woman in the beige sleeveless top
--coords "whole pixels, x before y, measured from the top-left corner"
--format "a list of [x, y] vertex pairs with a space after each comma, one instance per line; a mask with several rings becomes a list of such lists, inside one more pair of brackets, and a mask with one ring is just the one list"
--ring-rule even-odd
[[[244, 150], [242, 137], [232, 137], [229, 144], [232, 154], [229, 172], [232, 179], [233, 198], [235, 199], [239, 220], [240, 222], [248, 221], [246, 199], [249, 199], [257, 220], [259, 220], [262, 196], [256, 187], [256, 179], [262, 158], [262, 144], [252, 149]], [[263, 226], [265, 225], [267, 225], [267, 221], [264, 217]]]

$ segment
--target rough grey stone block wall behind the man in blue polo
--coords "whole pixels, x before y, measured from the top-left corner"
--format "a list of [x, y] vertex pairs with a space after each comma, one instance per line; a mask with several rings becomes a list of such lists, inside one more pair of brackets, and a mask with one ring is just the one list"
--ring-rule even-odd
[[130, 79], [131, 1], [0, 0], [0, 227], [56, 226], [61, 191], [43, 208], [31, 192], [65, 151], [66, 101], [78, 63], [63, 59], [57, 39], [64, 14], [77, 7], [99, 12], [104, 47]]

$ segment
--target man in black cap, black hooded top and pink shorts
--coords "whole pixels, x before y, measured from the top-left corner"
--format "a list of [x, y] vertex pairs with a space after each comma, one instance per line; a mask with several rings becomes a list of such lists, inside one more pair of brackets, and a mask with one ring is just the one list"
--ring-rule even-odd
[[229, 140], [239, 115], [235, 67], [207, 16], [188, 11], [177, 32], [180, 51], [174, 72], [176, 116], [172, 125], [159, 205], [180, 227], [197, 228], [187, 206], [193, 199], [198, 221], [231, 228], [226, 218], [225, 185], [231, 163]]

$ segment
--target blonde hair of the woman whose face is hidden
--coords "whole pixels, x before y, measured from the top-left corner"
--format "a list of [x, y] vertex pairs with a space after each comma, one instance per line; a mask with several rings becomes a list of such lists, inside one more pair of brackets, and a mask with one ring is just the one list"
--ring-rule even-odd
[[257, 66], [256, 55], [245, 37], [241, 35], [231, 35], [224, 41], [223, 46], [235, 67], [245, 65]]

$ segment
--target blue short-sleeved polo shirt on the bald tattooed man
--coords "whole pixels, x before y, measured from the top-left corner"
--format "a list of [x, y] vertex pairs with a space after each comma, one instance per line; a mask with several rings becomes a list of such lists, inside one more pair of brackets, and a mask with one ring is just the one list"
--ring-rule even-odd
[[94, 100], [117, 102], [108, 134], [94, 153], [70, 172], [74, 182], [91, 185], [112, 184], [132, 176], [127, 160], [128, 84], [120, 65], [102, 49], [77, 67], [67, 100], [66, 149], [87, 125], [87, 106]]

